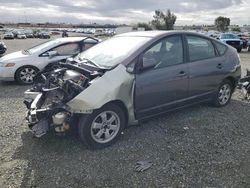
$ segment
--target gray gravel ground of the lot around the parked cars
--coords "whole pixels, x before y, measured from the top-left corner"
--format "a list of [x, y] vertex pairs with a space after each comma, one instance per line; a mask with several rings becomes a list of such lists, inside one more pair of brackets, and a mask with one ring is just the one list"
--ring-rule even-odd
[[[5, 41], [8, 53], [43, 40]], [[250, 53], [242, 52], [250, 68]], [[88, 150], [74, 135], [32, 138], [26, 86], [0, 82], [0, 187], [250, 187], [250, 103], [237, 91], [224, 108], [195, 106], [125, 130]], [[134, 171], [137, 161], [153, 166]]]

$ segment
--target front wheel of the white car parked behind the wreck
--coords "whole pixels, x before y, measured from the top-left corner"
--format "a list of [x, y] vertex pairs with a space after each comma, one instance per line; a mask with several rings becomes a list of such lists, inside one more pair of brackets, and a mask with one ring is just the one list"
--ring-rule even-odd
[[39, 69], [33, 66], [20, 67], [16, 71], [15, 79], [18, 83], [23, 85], [32, 84], [38, 71]]

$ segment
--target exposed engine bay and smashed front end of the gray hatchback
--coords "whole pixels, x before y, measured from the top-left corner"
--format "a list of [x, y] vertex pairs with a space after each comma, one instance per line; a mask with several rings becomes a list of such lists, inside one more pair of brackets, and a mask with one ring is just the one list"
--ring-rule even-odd
[[104, 74], [104, 70], [87, 70], [76, 64], [61, 64], [59, 69], [40, 72], [31, 89], [24, 93], [28, 108], [26, 119], [36, 137], [50, 129], [64, 133], [74, 119], [67, 102], [89, 87], [90, 81]]

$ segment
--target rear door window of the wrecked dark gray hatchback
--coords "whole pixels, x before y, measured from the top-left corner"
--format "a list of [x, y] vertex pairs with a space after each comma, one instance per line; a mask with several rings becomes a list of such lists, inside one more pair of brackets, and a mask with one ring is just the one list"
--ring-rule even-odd
[[213, 58], [216, 56], [212, 42], [196, 36], [187, 36], [190, 61]]

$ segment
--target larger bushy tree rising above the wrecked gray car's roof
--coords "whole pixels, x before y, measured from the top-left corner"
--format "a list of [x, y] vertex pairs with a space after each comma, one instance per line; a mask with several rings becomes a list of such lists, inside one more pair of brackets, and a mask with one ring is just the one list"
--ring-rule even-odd
[[166, 13], [156, 10], [153, 16], [152, 25], [159, 30], [173, 30], [177, 17], [169, 9]]

